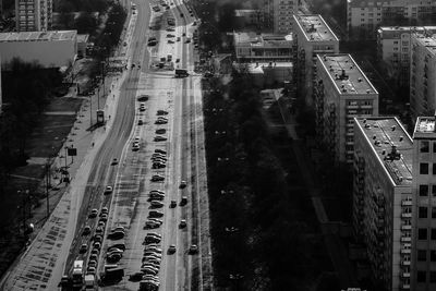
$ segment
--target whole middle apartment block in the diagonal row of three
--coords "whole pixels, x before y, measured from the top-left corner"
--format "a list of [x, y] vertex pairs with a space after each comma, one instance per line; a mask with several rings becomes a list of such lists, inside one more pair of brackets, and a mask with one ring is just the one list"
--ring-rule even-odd
[[336, 162], [353, 162], [353, 118], [378, 116], [378, 92], [350, 54], [317, 54], [316, 129]]

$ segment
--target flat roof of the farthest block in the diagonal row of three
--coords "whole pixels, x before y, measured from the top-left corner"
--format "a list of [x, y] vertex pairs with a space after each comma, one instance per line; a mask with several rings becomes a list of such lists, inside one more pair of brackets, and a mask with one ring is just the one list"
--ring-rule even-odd
[[294, 15], [293, 17], [300, 29], [304, 33], [307, 41], [339, 41], [322, 15]]

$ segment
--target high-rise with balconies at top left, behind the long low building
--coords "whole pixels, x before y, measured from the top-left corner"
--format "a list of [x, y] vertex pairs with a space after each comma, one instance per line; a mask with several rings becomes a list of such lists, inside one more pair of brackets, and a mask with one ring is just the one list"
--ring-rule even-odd
[[17, 32], [48, 31], [52, 24], [52, 0], [15, 0]]

